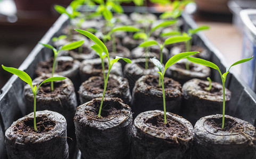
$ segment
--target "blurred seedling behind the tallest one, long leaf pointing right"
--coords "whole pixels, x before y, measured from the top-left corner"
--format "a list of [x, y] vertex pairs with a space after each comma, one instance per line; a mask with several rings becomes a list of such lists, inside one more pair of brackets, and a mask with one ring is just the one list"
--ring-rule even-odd
[[118, 32], [118, 31], [125, 31], [125, 32], [137, 32], [140, 29], [130, 26], [130, 25], [123, 25], [123, 26], [118, 26], [118, 27], [114, 27], [113, 29], [110, 30], [110, 32], [108, 34], [106, 34], [105, 36], [103, 36], [103, 40], [105, 41], [107, 40], [112, 40], [112, 51], [115, 53], [116, 52], [116, 47], [115, 47], [115, 35], [114, 32]]

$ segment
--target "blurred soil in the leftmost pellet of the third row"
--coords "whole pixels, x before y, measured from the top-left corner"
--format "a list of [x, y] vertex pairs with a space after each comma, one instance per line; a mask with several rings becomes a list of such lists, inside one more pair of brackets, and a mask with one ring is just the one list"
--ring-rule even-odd
[[[55, 73], [64, 72], [66, 70], [69, 70], [73, 67], [73, 61], [58, 61], [57, 67], [55, 67]], [[51, 60], [43, 61], [38, 64], [37, 72], [42, 73], [52, 73], [52, 67], [53, 67], [53, 58]]]

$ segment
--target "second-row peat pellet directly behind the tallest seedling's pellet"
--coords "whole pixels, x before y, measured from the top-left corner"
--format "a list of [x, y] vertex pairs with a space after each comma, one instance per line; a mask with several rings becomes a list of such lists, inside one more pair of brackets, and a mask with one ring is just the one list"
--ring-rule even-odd
[[[83, 82], [79, 88], [78, 94], [80, 103], [86, 103], [103, 95], [104, 78], [103, 76], [93, 76]], [[105, 97], [117, 97], [126, 104], [131, 101], [129, 83], [126, 78], [109, 75], [108, 85], [106, 87]]]

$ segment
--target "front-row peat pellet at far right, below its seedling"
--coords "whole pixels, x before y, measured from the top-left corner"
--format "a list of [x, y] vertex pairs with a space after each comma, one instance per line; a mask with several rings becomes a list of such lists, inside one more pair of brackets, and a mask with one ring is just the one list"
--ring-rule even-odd
[[203, 117], [195, 124], [193, 157], [198, 159], [255, 158], [255, 127], [244, 120], [225, 115]]

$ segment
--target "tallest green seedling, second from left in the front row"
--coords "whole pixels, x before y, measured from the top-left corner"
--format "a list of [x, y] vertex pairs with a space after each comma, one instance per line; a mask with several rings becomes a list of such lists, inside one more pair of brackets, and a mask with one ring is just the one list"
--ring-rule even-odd
[[78, 31], [79, 33], [83, 34], [84, 36], [88, 37], [89, 39], [93, 40], [105, 52], [106, 57], [108, 57], [109, 70], [108, 70], [108, 74], [106, 75], [106, 80], [104, 82], [104, 90], [103, 90], [100, 110], [98, 111], [98, 118], [100, 118], [101, 117], [102, 104], [103, 104], [103, 100], [104, 100], [104, 96], [105, 96], [105, 92], [106, 92], [106, 86], [108, 84], [109, 74], [110, 74], [110, 70], [111, 70], [113, 64], [117, 63], [117, 61], [119, 59], [123, 59], [124, 61], [126, 61], [126, 63], [131, 63], [131, 60], [128, 59], [128, 58], [123, 58], [123, 57], [118, 57], [118, 56], [116, 56], [115, 59], [110, 60], [109, 51], [100, 39], [98, 39], [96, 36], [94, 36], [94, 34], [88, 32], [88, 31], [78, 30], [78, 29], [75, 29], [75, 30]]

